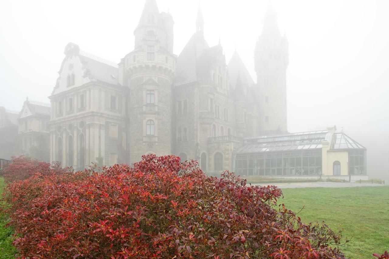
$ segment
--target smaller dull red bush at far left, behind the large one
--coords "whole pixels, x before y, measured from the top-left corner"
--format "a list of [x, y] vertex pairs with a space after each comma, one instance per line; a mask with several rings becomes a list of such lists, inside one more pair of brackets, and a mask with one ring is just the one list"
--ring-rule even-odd
[[61, 163], [53, 162], [52, 164], [39, 161], [26, 156], [12, 157], [12, 163], [7, 165], [1, 172], [6, 182], [25, 180], [35, 173], [40, 175], [51, 175], [52, 173], [63, 173], [67, 169], [61, 168]]

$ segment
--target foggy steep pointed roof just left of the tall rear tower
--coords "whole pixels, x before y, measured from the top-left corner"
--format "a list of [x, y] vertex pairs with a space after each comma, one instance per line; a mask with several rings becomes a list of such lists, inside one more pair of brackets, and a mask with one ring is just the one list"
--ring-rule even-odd
[[240, 76], [240, 80], [243, 86], [250, 87], [254, 84], [254, 80], [252, 80], [249, 71], [247, 70], [237, 51], [235, 51], [230, 59], [230, 62], [228, 63], [228, 76], [230, 77], [230, 82], [233, 89], [235, 89], [235, 85], [237, 84], [238, 75]]

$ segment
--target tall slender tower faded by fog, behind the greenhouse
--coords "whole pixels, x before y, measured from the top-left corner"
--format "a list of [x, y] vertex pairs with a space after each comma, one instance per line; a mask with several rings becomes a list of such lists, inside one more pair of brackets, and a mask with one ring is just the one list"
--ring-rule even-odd
[[288, 42], [281, 36], [277, 14], [269, 5], [263, 19], [262, 34], [254, 51], [258, 82], [259, 134], [287, 132], [286, 68]]

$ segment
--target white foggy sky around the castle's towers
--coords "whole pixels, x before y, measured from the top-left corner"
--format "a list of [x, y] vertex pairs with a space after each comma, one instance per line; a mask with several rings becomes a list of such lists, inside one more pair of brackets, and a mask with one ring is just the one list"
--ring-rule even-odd
[[[196, 31], [199, 2], [158, 0], [174, 19], [174, 54]], [[268, 1], [201, 1], [204, 36], [235, 49], [252, 78]], [[288, 131], [336, 125], [367, 148], [370, 177], [389, 180], [389, 2], [273, 0], [289, 42]], [[49, 102], [68, 42], [119, 63], [134, 47], [144, 1], [1, 1], [0, 106]]]

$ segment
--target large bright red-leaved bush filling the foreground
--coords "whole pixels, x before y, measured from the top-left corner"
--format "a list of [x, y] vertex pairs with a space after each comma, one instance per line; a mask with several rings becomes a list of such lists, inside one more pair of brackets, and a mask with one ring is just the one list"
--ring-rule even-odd
[[[301, 223], [277, 205], [275, 186], [246, 186], [228, 172], [208, 177], [177, 156], [88, 173], [9, 185], [21, 257], [344, 258], [340, 233]], [[18, 189], [34, 187], [38, 194], [24, 205], [13, 200]]]

